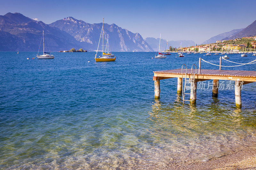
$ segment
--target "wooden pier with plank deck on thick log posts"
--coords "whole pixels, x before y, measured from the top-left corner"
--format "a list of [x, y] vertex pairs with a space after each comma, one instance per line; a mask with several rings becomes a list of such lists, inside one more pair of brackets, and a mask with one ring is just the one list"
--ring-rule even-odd
[[[183, 78], [184, 73], [186, 73], [186, 69], [182, 70]], [[164, 80], [167, 78], [178, 78], [177, 83], [177, 94], [182, 93], [182, 72], [181, 69], [174, 70], [164, 70], [164, 71], [154, 71], [153, 80], [155, 81], [155, 99], [160, 98], [160, 80]], [[196, 69], [192, 70], [193, 74], [196, 73]], [[200, 74], [198, 73], [200, 72]], [[187, 78], [192, 78], [191, 69], [187, 69]], [[197, 70], [197, 74], [195, 74], [194, 85], [191, 82], [191, 94], [190, 94], [190, 102], [196, 103], [196, 86], [197, 82], [205, 81], [205, 80], [213, 80], [212, 85], [212, 96], [218, 97], [218, 85], [219, 80], [233, 80], [235, 81], [235, 100], [236, 107], [241, 108], [241, 85], [245, 85], [248, 83], [256, 82], [256, 71], [246, 71], [246, 70]], [[192, 101], [193, 100], [193, 101]]]

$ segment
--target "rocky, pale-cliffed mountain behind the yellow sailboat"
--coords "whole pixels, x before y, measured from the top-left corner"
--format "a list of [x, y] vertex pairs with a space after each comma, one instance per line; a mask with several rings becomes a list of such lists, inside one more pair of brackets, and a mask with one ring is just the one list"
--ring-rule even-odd
[[[89, 24], [82, 20], [68, 17], [55, 21], [50, 25], [66, 31], [75, 37], [77, 41], [84, 42], [86, 46], [92, 49], [96, 50], [98, 47], [102, 23]], [[107, 41], [107, 34], [111, 51], [153, 51], [139, 33], [132, 33], [116, 24], [104, 24], [104, 44]], [[101, 46], [99, 47], [102, 48]]]

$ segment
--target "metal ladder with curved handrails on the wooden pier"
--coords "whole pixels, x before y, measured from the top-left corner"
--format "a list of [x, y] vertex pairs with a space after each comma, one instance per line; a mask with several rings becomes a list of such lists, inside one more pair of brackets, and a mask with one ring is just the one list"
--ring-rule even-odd
[[[185, 67], [186, 67], [186, 73], [185, 73], [185, 81], [184, 81], [184, 88], [183, 88], [183, 65], [185, 65]], [[194, 90], [191, 90], [191, 88], [193, 88], [194, 89], [194, 84], [195, 84], [195, 74], [196, 73], [194, 73], [194, 75], [193, 75], [193, 66], [195, 65], [195, 67], [196, 67], [196, 64], [193, 64], [192, 65], [192, 67], [191, 67], [191, 78], [188, 78], [187, 79], [187, 73], [188, 73], [188, 71], [187, 71], [187, 66], [186, 66], [186, 64], [182, 64], [182, 66], [181, 66], [181, 76], [182, 76], [182, 99], [183, 99], [183, 105], [184, 105], [184, 101], [190, 101], [191, 102], [191, 104], [193, 104], [193, 100], [194, 100], [194, 95], [193, 95], [193, 93], [194, 93]], [[190, 86], [186, 86], [186, 82], [190, 82]], [[193, 87], [191, 86], [191, 83], [193, 82]], [[190, 88], [190, 92], [188, 93], [186, 93], [185, 92], [185, 90], [186, 90], [186, 87], [189, 87]], [[191, 93], [191, 91], [192, 91], [192, 93]], [[189, 95], [191, 95], [192, 94], [192, 96], [193, 96], [193, 98], [192, 98], [192, 100], [190, 99], [190, 100], [185, 100], [185, 94], [189, 94]], [[189, 96], [190, 97], [190, 96]]]

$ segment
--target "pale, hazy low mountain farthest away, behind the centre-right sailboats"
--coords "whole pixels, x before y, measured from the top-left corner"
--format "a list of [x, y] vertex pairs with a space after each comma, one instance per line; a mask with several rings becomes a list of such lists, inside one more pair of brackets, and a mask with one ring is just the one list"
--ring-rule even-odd
[[[158, 51], [159, 49], [159, 38], [155, 39], [152, 37], [148, 37], [145, 39], [145, 41], [150, 45], [150, 47], [153, 48], [154, 51]], [[168, 47], [170, 46], [173, 47], [180, 47], [180, 43], [182, 42], [182, 47], [188, 47], [189, 46], [193, 46], [196, 45], [196, 43], [194, 41], [187, 41], [187, 40], [180, 40], [180, 41], [168, 41]], [[161, 39], [160, 42], [160, 51], [164, 51], [166, 49], [166, 43], [167, 41], [165, 39]]]

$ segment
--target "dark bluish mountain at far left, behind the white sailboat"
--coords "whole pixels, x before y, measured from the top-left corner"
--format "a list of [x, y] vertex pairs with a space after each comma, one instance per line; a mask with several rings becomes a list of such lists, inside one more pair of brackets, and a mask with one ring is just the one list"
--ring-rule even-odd
[[0, 15], [0, 51], [38, 51], [43, 30], [45, 44], [51, 51], [82, 47], [74, 37], [59, 28], [9, 12]]

